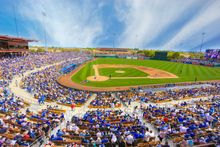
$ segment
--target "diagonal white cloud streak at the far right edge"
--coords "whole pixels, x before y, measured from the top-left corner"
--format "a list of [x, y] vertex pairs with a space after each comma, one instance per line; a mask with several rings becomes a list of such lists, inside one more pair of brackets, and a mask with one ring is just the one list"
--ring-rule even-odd
[[[175, 48], [181, 42], [189, 42], [192, 46], [201, 43], [202, 33], [206, 33], [206, 41], [215, 38], [220, 34], [217, 29], [220, 25], [220, 1], [212, 1], [207, 8], [203, 9], [201, 14], [190, 21], [181, 29], [167, 44], [166, 48]], [[218, 21], [218, 23], [216, 23]]]

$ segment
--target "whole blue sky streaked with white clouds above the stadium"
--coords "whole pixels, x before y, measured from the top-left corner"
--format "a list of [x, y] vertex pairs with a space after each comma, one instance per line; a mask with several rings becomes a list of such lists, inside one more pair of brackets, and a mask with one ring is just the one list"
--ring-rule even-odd
[[15, 19], [33, 45], [45, 29], [48, 46], [198, 51], [204, 32], [203, 50], [220, 48], [220, 0], [0, 0], [0, 34], [17, 36]]

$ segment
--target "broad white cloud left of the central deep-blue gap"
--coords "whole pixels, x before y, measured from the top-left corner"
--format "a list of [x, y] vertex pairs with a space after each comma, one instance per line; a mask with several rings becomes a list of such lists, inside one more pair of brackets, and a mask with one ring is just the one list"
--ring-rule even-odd
[[[26, 0], [19, 5], [19, 11], [26, 19], [41, 25], [42, 32], [35, 32], [33, 36], [38, 36], [42, 44], [43, 28], [46, 26], [47, 36], [53, 45], [71, 47], [96, 44], [96, 38], [102, 33], [102, 22], [96, 9], [98, 6], [91, 1]], [[30, 32], [33, 34], [33, 31]]]

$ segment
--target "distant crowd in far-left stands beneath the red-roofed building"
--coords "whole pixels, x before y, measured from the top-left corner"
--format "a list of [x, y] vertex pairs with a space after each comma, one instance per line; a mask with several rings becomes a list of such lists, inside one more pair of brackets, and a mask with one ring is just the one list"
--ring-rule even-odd
[[79, 57], [79, 53], [60, 52], [60, 53], [34, 53], [25, 56], [1, 57], [0, 61], [0, 81], [8, 86], [8, 82], [15, 75], [22, 75], [27, 70], [33, 70], [45, 65], [54, 64], [67, 59]]

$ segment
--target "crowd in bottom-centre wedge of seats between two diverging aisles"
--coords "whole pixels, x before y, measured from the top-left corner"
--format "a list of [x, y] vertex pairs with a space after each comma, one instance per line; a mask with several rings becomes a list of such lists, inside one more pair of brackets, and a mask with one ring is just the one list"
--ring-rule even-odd
[[59, 130], [50, 140], [63, 144], [75, 142], [83, 145], [120, 147], [136, 146], [140, 143], [156, 146], [160, 143], [155, 134], [138, 118], [122, 110], [105, 109], [87, 111], [82, 118], [73, 116], [66, 129]]

